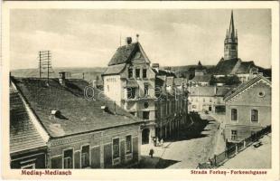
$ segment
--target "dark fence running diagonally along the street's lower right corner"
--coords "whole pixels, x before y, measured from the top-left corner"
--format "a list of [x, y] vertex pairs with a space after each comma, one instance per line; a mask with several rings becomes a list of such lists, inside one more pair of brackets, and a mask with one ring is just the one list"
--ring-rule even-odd
[[261, 129], [257, 131], [255, 134], [251, 135], [249, 138], [245, 138], [242, 141], [231, 144], [229, 147], [225, 149], [219, 155], [214, 155], [214, 157], [210, 158], [208, 162], [200, 163], [197, 168], [211, 168], [211, 167], [219, 167], [222, 163], [224, 163], [230, 157], [234, 157], [243, 149], [251, 146], [254, 142], [256, 142], [259, 138], [262, 138], [264, 135], [271, 132], [271, 126], [267, 126], [265, 129]]

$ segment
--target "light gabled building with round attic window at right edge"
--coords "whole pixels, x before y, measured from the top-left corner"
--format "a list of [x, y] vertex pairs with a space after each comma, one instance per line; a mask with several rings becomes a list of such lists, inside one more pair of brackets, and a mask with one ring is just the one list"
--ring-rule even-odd
[[225, 96], [225, 137], [238, 142], [271, 125], [271, 81], [264, 76], [244, 82]]

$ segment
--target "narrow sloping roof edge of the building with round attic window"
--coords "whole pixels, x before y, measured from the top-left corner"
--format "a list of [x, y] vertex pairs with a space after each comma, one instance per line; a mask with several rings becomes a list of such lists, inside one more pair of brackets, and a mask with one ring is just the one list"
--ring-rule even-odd
[[254, 79], [251, 79], [249, 81], [246, 81], [244, 83], [241, 83], [236, 89], [234, 90], [229, 90], [229, 93], [225, 96], [224, 100], [228, 101], [237, 96], [239, 93], [241, 93], [243, 90], [246, 90], [253, 84], [257, 83], [258, 81], [265, 81], [267, 84], [271, 86], [271, 81], [267, 80], [264, 76], [258, 75]]

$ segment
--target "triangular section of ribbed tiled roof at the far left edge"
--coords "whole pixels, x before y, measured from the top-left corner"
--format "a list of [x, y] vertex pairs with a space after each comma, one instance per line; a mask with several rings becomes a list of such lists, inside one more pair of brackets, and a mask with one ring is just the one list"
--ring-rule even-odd
[[10, 153], [44, 148], [46, 143], [30, 120], [18, 92], [10, 92]]

